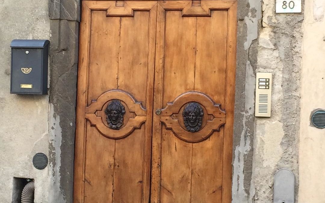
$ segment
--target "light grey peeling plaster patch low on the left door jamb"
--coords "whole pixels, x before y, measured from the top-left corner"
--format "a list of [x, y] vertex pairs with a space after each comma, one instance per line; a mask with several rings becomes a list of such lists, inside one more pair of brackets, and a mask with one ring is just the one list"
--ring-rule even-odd
[[60, 188], [60, 167], [61, 167], [61, 143], [62, 129], [60, 127], [60, 117], [55, 115], [53, 104], [49, 104], [49, 175], [50, 190], [48, 202], [65, 202], [64, 194]]

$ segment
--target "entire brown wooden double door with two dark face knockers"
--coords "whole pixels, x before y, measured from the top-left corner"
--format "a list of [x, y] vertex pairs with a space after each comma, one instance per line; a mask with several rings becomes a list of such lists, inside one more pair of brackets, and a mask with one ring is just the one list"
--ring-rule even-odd
[[74, 202], [231, 202], [236, 1], [82, 1]]

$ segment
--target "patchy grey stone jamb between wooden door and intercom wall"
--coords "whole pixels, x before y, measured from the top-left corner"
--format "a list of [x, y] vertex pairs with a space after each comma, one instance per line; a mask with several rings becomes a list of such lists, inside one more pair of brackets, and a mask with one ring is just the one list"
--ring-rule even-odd
[[237, 19], [232, 202], [246, 203], [251, 202], [254, 196], [254, 188], [251, 187], [255, 130], [254, 89], [261, 2], [239, 0]]

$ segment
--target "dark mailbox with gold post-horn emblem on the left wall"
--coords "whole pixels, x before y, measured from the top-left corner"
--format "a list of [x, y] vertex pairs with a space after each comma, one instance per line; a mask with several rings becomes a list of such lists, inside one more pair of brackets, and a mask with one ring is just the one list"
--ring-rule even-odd
[[11, 94], [46, 95], [48, 40], [11, 42]]

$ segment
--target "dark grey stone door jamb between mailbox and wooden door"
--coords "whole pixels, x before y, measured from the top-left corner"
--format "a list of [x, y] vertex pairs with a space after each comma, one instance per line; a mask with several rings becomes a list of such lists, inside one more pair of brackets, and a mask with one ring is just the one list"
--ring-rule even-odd
[[49, 0], [49, 202], [72, 202], [80, 0]]

